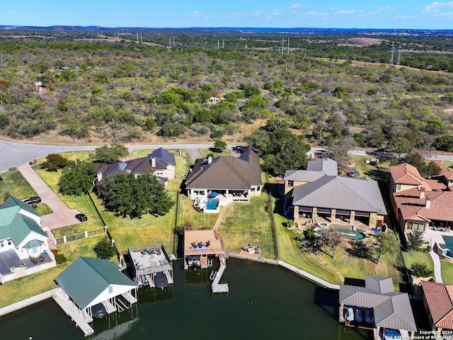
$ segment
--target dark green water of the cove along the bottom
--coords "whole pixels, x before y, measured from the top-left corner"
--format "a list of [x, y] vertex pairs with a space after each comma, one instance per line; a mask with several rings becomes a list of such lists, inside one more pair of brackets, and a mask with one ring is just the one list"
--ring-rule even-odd
[[[212, 295], [207, 276], [174, 263], [175, 285], [139, 290], [139, 304], [95, 320], [92, 339], [372, 339], [368, 331], [338, 324], [338, 293], [282, 268], [227, 260], [229, 295]], [[84, 339], [48, 300], [0, 319], [9, 339]], [[6, 338], [5, 338], [6, 339]]]

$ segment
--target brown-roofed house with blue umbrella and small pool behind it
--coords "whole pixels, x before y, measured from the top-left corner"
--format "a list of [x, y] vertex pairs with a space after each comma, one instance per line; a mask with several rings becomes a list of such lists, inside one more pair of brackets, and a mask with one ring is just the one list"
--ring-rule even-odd
[[240, 157], [207, 157], [195, 163], [185, 179], [187, 196], [207, 198], [218, 193], [227, 202], [250, 202], [262, 188], [261, 166], [258, 154], [251, 149]]

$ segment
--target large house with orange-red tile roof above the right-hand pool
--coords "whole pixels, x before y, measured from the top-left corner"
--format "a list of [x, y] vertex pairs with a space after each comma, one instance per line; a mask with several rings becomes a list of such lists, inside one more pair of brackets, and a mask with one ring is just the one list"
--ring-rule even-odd
[[391, 203], [403, 232], [453, 227], [453, 171], [424, 179], [410, 164], [390, 166], [389, 170]]

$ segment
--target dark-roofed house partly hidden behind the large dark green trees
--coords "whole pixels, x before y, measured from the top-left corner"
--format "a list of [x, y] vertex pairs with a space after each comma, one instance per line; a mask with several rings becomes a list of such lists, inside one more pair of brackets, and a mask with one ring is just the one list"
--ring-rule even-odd
[[174, 179], [176, 176], [175, 155], [161, 147], [154, 150], [154, 152], [147, 157], [131, 159], [126, 162], [115, 162], [112, 164], [96, 163], [95, 166], [98, 171], [96, 183], [101, 183], [103, 179], [110, 176], [116, 176], [121, 172], [126, 174], [132, 172], [136, 176], [139, 176], [148, 171], [151, 174], [156, 175], [159, 181], [164, 184], [168, 180]]

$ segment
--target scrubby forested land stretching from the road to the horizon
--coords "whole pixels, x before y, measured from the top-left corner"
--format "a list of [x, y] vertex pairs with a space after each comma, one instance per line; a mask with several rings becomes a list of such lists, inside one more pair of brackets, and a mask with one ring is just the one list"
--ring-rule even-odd
[[37, 142], [242, 142], [277, 118], [312, 145], [351, 136], [395, 152], [453, 151], [448, 38], [392, 37], [403, 45], [402, 67], [389, 67], [385, 37], [360, 45], [296, 36], [282, 53], [281, 35], [185, 33], [167, 47], [168, 35], [148, 34], [138, 43], [132, 33], [0, 35], [0, 133]]

